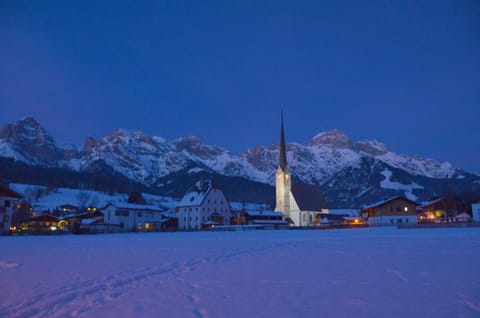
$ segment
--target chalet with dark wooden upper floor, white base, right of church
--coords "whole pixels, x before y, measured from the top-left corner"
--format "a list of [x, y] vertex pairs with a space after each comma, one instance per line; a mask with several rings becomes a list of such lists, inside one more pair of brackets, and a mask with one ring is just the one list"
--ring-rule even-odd
[[396, 196], [362, 207], [362, 216], [370, 225], [416, 224], [417, 205], [412, 200]]

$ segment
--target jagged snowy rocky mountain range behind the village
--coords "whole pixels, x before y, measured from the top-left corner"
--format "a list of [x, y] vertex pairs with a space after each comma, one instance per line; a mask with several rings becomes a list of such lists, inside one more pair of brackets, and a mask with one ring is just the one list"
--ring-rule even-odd
[[[89, 137], [79, 149], [60, 144], [31, 117], [0, 128], [0, 157], [78, 172], [108, 167], [159, 189], [180, 176], [190, 176], [193, 184], [202, 173], [274, 185], [278, 156], [278, 145], [255, 146], [237, 156], [195, 136], [168, 141], [123, 129], [99, 140]], [[288, 144], [287, 159], [298, 181], [322, 186], [327, 201], [342, 207], [399, 193], [428, 200], [447, 190], [476, 190], [480, 183], [479, 176], [450, 163], [396, 154], [375, 140], [354, 143], [338, 130], [319, 133], [305, 145]]]

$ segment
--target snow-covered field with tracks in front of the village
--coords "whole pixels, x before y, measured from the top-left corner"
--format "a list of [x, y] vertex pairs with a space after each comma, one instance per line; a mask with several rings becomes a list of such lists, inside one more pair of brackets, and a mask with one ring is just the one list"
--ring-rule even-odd
[[0, 317], [480, 317], [480, 228], [0, 237]]

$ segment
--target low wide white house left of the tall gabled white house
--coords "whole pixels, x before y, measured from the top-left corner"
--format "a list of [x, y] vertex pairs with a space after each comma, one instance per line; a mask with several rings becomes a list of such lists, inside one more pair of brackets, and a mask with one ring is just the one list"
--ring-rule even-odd
[[131, 203], [109, 203], [103, 208], [103, 215], [105, 224], [119, 225], [124, 232], [159, 231], [167, 220], [159, 207]]

